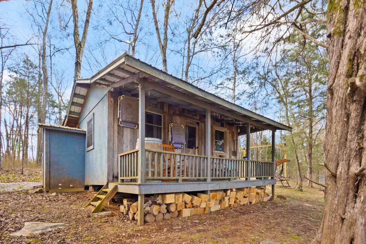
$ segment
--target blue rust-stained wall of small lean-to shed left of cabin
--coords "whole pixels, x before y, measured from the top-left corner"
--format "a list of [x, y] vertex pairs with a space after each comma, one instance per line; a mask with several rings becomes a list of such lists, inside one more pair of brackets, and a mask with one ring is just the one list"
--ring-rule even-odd
[[46, 190], [84, 190], [85, 133], [45, 129], [44, 136]]

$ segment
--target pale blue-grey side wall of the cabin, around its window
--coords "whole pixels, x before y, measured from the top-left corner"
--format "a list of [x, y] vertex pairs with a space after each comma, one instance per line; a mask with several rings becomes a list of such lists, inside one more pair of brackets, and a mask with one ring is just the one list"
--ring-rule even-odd
[[110, 87], [91, 86], [80, 116], [79, 128], [86, 129], [87, 120], [94, 113], [94, 149], [85, 153], [86, 185], [107, 183], [109, 169], [107, 161], [107, 92], [110, 89]]

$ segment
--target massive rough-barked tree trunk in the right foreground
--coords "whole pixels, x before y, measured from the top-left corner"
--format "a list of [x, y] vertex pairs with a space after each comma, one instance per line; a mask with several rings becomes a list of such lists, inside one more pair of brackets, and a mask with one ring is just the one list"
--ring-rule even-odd
[[330, 0], [325, 206], [313, 243], [366, 243], [366, 4]]

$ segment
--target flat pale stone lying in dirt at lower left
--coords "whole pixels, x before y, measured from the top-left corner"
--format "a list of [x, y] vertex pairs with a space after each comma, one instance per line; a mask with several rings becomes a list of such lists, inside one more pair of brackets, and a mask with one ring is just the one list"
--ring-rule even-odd
[[11, 233], [11, 236], [30, 236], [32, 234], [38, 234], [42, 232], [48, 232], [58, 228], [65, 228], [67, 224], [64, 223], [42, 223], [42, 222], [25, 222], [24, 227], [15, 232]]

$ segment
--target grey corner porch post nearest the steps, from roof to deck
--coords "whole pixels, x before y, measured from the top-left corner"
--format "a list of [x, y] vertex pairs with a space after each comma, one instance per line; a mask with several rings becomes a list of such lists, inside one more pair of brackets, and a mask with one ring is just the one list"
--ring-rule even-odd
[[[145, 172], [146, 172], [146, 155], [145, 155], [145, 87], [143, 83], [139, 86], [139, 127], [138, 127], [138, 138], [139, 138], [139, 152], [138, 152], [138, 179], [137, 183], [145, 183]], [[143, 202], [143, 200], [142, 200]]]

